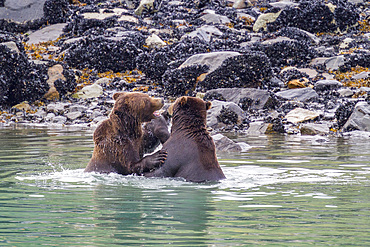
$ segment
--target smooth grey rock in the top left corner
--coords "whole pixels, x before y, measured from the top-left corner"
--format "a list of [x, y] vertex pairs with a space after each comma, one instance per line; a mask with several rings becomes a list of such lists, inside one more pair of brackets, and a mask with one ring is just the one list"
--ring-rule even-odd
[[0, 8], [0, 19], [26, 22], [41, 19], [44, 16], [46, 0], [7, 0]]

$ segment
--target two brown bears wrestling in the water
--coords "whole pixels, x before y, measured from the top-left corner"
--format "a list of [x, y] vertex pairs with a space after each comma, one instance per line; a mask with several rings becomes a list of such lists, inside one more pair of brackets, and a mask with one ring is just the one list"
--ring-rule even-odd
[[[109, 118], [94, 132], [94, 151], [85, 172], [182, 177], [192, 182], [225, 178], [206, 129], [210, 102], [178, 98], [168, 109], [172, 114], [170, 134], [168, 117], [154, 115], [163, 107], [163, 99], [124, 92], [115, 93], [113, 99]], [[142, 127], [142, 123], [147, 124]], [[163, 144], [161, 150], [143, 157], [159, 142]]]

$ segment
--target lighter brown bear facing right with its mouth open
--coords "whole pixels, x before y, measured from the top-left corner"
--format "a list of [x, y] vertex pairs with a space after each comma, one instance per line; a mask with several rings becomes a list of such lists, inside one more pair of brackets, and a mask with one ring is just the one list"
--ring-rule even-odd
[[[115, 93], [113, 99], [109, 118], [94, 132], [94, 151], [85, 172], [143, 174], [161, 166], [167, 156], [164, 150], [143, 158], [146, 142], [142, 123], [155, 118], [154, 112], [162, 108], [163, 99], [125, 92]], [[161, 141], [167, 139], [165, 136]]]

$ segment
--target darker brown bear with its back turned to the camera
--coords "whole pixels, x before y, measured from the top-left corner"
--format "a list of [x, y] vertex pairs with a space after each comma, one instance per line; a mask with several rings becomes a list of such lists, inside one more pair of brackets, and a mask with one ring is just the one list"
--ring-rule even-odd
[[175, 101], [171, 136], [163, 144], [167, 159], [160, 168], [144, 173], [146, 177], [182, 177], [187, 181], [218, 181], [225, 178], [218, 164], [216, 148], [206, 129], [210, 102], [183, 96]]

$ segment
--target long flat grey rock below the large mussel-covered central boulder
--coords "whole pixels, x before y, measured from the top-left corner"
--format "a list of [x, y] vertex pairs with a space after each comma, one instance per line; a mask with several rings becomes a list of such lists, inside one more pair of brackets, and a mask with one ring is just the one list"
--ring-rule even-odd
[[270, 93], [255, 88], [219, 88], [207, 91], [206, 96], [212, 93], [221, 94], [227, 101], [239, 104], [241, 99], [251, 99], [251, 109], [260, 110], [273, 104]]

